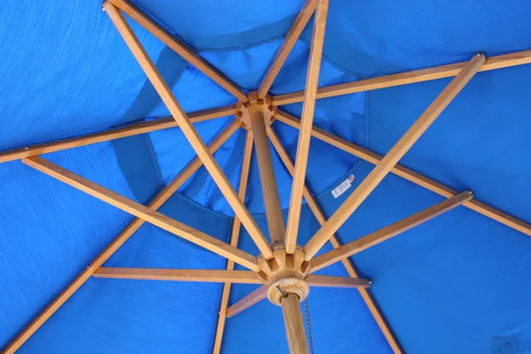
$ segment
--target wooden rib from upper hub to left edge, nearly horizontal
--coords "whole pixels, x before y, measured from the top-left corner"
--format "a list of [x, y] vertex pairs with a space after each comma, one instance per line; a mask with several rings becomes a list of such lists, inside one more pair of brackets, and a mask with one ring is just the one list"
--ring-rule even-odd
[[[200, 121], [225, 117], [227, 115], [235, 114], [235, 105], [227, 105], [225, 107], [212, 108], [203, 111], [189, 113], [189, 119], [192, 123]], [[18, 160], [20, 158], [29, 158], [32, 156], [48, 154], [50, 152], [78, 148], [93, 144], [96, 142], [107, 142], [114, 139], [125, 138], [127, 136], [139, 135], [144, 133], [155, 132], [157, 130], [167, 129], [171, 127], [179, 127], [179, 124], [172, 117], [155, 119], [150, 121], [142, 121], [135, 123], [128, 127], [120, 127], [110, 129], [104, 132], [94, 134], [76, 136], [73, 138], [66, 138], [57, 142], [44, 142], [27, 146], [24, 148], [6, 150], [0, 152], [0, 163]]]

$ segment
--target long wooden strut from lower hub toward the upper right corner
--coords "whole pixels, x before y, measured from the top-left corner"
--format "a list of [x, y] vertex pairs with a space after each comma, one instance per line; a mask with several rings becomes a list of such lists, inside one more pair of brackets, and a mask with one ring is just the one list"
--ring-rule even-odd
[[398, 163], [398, 160], [410, 150], [413, 143], [415, 143], [420, 135], [424, 134], [427, 128], [437, 117], [439, 117], [444, 108], [450, 104], [461, 89], [465, 87], [466, 83], [472, 79], [473, 75], [477, 73], [478, 69], [484, 62], [484, 55], [475, 55], [470, 60], [469, 64], [458, 73], [445, 89], [443, 89], [443, 92], [435, 98], [435, 101], [430, 104], [429, 107], [427, 107], [427, 110], [420, 115], [419, 119], [413, 123], [412, 127], [410, 127], [398, 142], [396, 142], [391, 150], [389, 150], [388, 154], [373, 168], [373, 171], [361, 181], [358, 188], [350, 194], [345, 202], [327, 220], [325, 225], [323, 225], [319, 231], [313, 235], [312, 239], [306, 243], [304, 246], [304, 253], [306, 255], [304, 259], [306, 261], [312, 259], [320, 248], [328, 241], [330, 236], [334, 235], [337, 229], [349, 219], [352, 212], [356, 211], [358, 206]]

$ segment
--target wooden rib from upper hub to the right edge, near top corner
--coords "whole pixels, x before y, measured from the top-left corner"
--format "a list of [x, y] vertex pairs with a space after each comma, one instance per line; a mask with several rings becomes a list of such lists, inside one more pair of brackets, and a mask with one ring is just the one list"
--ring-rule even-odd
[[[394, 73], [392, 75], [326, 86], [317, 90], [317, 98], [348, 95], [373, 89], [392, 88], [410, 83], [449, 78], [456, 76], [467, 64], [468, 62], [441, 65], [411, 72]], [[516, 51], [488, 58], [478, 71], [486, 72], [525, 64], [531, 64], [531, 50]], [[302, 102], [303, 99], [304, 91], [297, 91], [285, 95], [273, 96], [273, 105], [294, 104], [296, 102]]]

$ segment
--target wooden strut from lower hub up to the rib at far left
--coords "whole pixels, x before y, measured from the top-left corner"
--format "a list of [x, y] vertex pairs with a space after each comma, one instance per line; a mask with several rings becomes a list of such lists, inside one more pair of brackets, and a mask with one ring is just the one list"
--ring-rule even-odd
[[236, 263], [249, 268], [255, 272], [259, 272], [257, 258], [251, 256], [249, 253], [238, 250], [225, 242], [219, 241], [217, 238], [206, 235], [193, 227], [189, 227], [175, 219], [168, 218], [160, 212], [155, 212], [145, 205], [136, 203], [125, 196], [121, 196], [110, 189], [89, 181], [78, 174], [72, 173], [65, 168], [52, 164], [50, 161], [40, 157], [24, 158], [22, 162], [35, 168], [42, 173], [46, 173], [54, 177], [58, 181], [65, 182], [75, 189], [94, 196], [97, 199], [111, 204], [124, 212], [128, 212], [135, 217], [144, 219], [145, 221], [160, 227], [173, 235], [178, 235], [181, 238], [193, 242], [206, 250], [219, 254], [221, 257], [234, 260]]

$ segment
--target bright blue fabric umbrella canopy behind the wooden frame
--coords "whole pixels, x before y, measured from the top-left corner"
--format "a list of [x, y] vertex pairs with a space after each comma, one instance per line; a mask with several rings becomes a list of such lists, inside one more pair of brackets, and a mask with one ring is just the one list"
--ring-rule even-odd
[[[244, 91], [258, 88], [304, 1], [135, 0], [150, 19]], [[319, 86], [488, 57], [531, 47], [525, 0], [330, 0]], [[214, 81], [129, 19], [186, 112], [235, 104]], [[312, 20], [273, 83], [304, 89]], [[0, 3], [0, 150], [170, 116], [100, 1]], [[531, 65], [477, 73], [401, 164], [531, 222]], [[450, 82], [427, 81], [320, 99], [314, 125], [384, 155]], [[302, 104], [281, 109], [300, 117]], [[234, 116], [195, 124], [211, 142]], [[273, 123], [295, 158], [298, 131]], [[237, 187], [245, 131], [214, 154]], [[196, 157], [177, 127], [43, 156], [148, 204]], [[273, 153], [287, 217], [291, 177]], [[306, 181], [327, 216], [373, 165], [312, 139]], [[331, 190], [352, 174], [348, 191]], [[0, 164], [0, 348], [132, 217], [23, 165]], [[350, 242], [443, 200], [389, 174], [339, 229]], [[266, 234], [256, 158], [245, 204]], [[234, 212], [201, 167], [159, 210], [229, 241]], [[304, 205], [297, 243], [319, 229]], [[239, 248], [258, 249], [242, 228]], [[327, 245], [321, 252], [330, 250]], [[531, 238], [465, 207], [352, 257], [407, 353], [531, 353]], [[224, 269], [226, 259], [144, 224], [105, 266]], [[347, 276], [340, 264], [319, 273]], [[256, 286], [234, 285], [229, 304]], [[221, 284], [94, 279], [20, 353], [212, 351]], [[312, 289], [316, 353], [392, 352], [355, 289]], [[267, 333], [266, 343], [264, 333]], [[222, 351], [288, 351], [281, 309], [263, 301], [232, 319]]]

